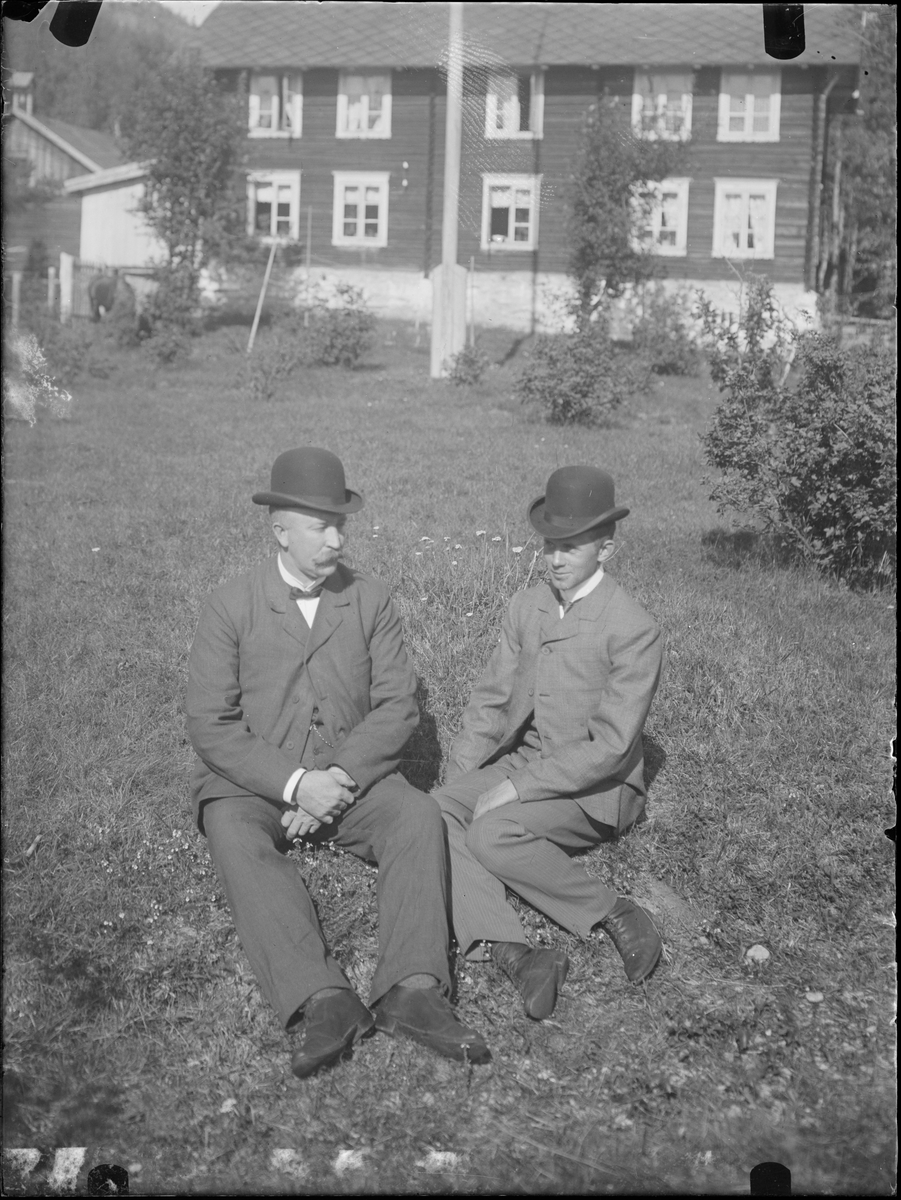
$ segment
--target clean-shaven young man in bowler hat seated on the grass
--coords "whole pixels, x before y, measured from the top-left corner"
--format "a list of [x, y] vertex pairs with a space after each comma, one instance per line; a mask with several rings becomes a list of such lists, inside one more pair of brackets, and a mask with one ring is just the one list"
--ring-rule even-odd
[[448, 824], [457, 944], [503, 967], [541, 1020], [569, 959], [525, 943], [505, 888], [579, 937], [606, 934], [632, 983], [660, 959], [644, 910], [571, 856], [643, 820], [642, 727], [661, 636], [605, 572], [615, 522], [629, 514], [606, 472], [561, 467], [528, 511], [549, 581], [510, 601], [434, 794]]

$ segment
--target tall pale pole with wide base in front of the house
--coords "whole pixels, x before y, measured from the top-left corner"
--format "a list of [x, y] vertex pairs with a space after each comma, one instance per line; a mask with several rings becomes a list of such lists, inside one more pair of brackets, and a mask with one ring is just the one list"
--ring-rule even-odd
[[463, 5], [450, 5], [448, 47], [448, 112], [444, 126], [444, 206], [442, 265], [432, 271], [431, 374], [440, 379], [445, 365], [465, 343], [465, 268], [457, 264], [459, 160], [463, 144]]

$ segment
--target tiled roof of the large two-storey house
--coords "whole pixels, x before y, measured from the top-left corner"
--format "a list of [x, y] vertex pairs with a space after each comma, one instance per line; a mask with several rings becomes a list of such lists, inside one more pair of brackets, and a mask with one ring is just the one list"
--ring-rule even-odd
[[[853, 65], [845, 4], [805, 5], [795, 65]], [[465, 4], [475, 61], [542, 66], [768, 65], [759, 4]], [[425, 67], [446, 49], [449, 5], [374, 0], [223, 0], [199, 31], [211, 67]], [[786, 64], [787, 65], [787, 64]]]

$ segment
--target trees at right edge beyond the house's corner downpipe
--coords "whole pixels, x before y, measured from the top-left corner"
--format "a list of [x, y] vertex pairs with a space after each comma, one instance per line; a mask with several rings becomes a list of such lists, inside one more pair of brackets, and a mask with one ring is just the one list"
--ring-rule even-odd
[[883, 317], [897, 290], [897, 10], [854, 5], [849, 20], [860, 95], [829, 131], [821, 283], [833, 308]]

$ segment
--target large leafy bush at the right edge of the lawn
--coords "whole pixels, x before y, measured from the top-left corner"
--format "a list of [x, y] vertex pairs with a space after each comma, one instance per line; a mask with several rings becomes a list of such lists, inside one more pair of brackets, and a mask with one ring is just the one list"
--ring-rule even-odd
[[[895, 358], [792, 334], [765, 281], [737, 324], [701, 307], [723, 400], [704, 436], [720, 511], [753, 514], [852, 584], [895, 575]], [[782, 383], [794, 343], [795, 383]]]

